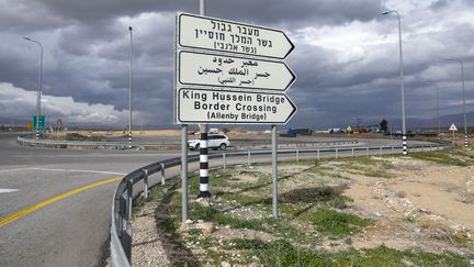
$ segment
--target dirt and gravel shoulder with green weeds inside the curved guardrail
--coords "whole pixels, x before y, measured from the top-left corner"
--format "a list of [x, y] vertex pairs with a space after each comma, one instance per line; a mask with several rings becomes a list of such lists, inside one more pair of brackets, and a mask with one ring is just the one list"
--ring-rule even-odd
[[133, 263], [472, 266], [473, 163], [461, 151], [281, 163], [278, 220], [270, 165], [212, 171], [213, 198], [191, 199], [185, 223], [176, 180], [137, 202]]

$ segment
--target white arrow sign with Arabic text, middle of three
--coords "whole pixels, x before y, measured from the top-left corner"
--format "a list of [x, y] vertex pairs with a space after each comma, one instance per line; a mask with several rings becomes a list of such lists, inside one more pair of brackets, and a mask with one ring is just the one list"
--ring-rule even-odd
[[269, 62], [195, 52], [179, 53], [182, 85], [256, 88], [284, 91], [295, 75], [283, 62]]

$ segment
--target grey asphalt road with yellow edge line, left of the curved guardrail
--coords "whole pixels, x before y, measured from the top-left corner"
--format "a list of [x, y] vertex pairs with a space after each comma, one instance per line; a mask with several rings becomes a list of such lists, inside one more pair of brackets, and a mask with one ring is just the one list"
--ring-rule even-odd
[[[102, 265], [117, 177], [179, 156], [177, 152], [22, 147], [15, 138], [16, 134], [0, 134], [0, 266]], [[361, 140], [358, 146], [399, 143]], [[221, 164], [215, 160], [211, 167]]]

